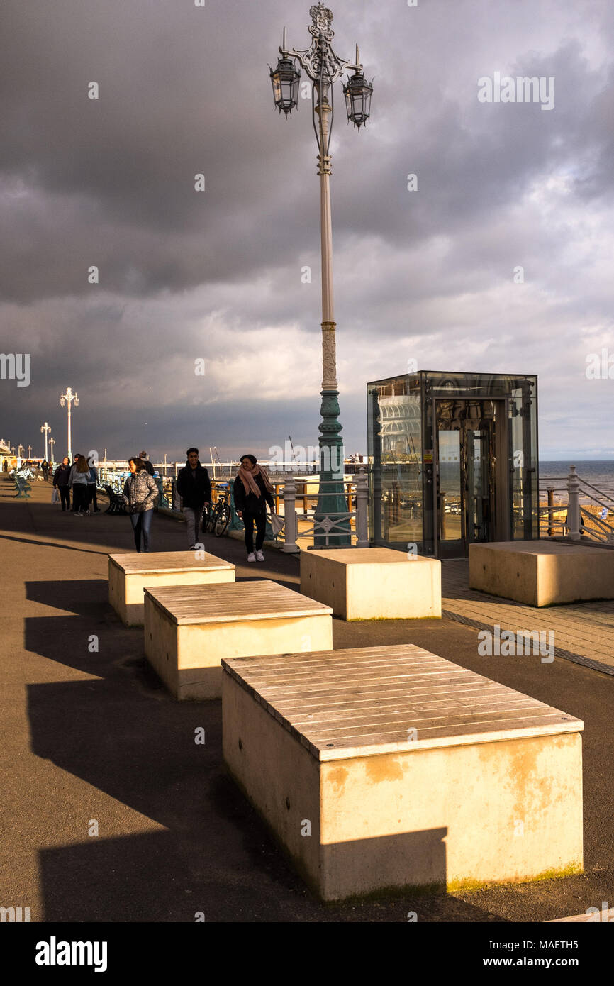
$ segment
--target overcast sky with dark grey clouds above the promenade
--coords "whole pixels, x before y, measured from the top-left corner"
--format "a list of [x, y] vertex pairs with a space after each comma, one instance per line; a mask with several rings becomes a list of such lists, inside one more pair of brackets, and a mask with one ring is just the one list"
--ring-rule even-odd
[[[1, 350], [32, 355], [32, 382], [0, 381], [0, 438], [40, 453], [46, 420], [63, 454], [59, 395], [70, 386], [73, 449], [110, 458], [141, 448], [182, 458], [192, 444], [266, 455], [289, 434], [316, 445], [310, 98], [280, 117], [267, 67], [284, 24], [291, 46], [308, 46], [308, 8], [3, 0]], [[360, 133], [336, 84], [348, 453], [367, 448], [366, 383], [415, 359], [536, 373], [540, 458], [614, 457], [614, 380], [585, 373], [602, 349], [614, 364], [612, 0], [335, 0], [332, 10], [336, 52], [351, 59], [358, 41], [375, 76]], [[496, 72], [554, 78], [553, 108], [480, 102], [478, 80]]]

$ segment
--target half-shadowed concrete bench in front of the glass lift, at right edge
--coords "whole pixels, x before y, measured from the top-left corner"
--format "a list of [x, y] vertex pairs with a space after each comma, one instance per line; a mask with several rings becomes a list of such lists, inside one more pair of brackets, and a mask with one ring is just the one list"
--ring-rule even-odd
[[549, 540], [470, 544], [469, 588], [529, 606], [614, 599], [614, 551]]

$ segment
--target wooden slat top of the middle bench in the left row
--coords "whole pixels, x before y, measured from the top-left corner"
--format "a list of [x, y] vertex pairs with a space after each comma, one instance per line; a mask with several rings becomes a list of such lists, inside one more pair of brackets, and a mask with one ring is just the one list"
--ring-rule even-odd
[[268, 579], [209, 586], [169, 586], [146, 589], [145, 595], [177, 624], [332, 614], [330, 606], [307, 599], [307, 596]]

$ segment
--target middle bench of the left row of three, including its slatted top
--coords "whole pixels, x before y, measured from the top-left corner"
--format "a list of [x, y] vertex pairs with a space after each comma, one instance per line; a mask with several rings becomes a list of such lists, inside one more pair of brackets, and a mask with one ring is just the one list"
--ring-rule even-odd
[[276, 582], [145, 590], [145, 654], [175, 698], [219, 698], [222, 659], [330, 650], [330, 608]]

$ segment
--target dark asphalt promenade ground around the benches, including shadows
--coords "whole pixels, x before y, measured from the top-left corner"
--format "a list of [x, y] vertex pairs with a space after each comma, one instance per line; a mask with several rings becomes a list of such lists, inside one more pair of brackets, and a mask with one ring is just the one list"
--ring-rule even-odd
[[[73, 518], [50, 495], [35, 483], [31, 500], [16, 500], [0, 479], [0, 906], [31, 907], [33, 921], [193, 922], [202, 911], [208, 922], [404, 923], [410, 911], [418, 921], [545, 921], [614, 904], [611, 673], [478, 656], [477, 630], [458, 622], [461, 587], [458, 599], [446, 592], [453, 619], [334, 620], [335, 648], [415, 643], [583, 719], [586, 872], [322, 906], [224, 772], [221, 703], [172, 701], [145, 663], [142, 631], [109, 607], [107, 554], [132, 550], [128, 519]], [[153, 536], [154, 550], [186, 543], [167, 517], [154, 519]], [[298, 587], [295, 558], [268, 551], [256, 568], [239, 541], [211, 536], [207, 549], [235, 562], [238, 579]], [[611, 619], [604, 633], [611, 639]]]

